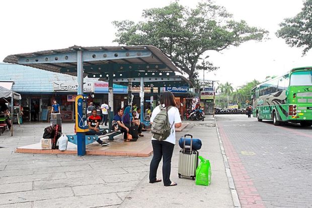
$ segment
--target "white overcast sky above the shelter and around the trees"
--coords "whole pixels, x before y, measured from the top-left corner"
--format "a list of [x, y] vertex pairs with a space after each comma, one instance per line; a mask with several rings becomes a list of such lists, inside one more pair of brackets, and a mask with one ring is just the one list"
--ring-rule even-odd
[[[0, 13], [0, 61], [7, 55], [66, 48], [73, 45], [110, 46], [116, 29], [114, 20], [141, 20], [143, 9], [164, 7], [171, 1], [2, 1]], [[196, 7], [198, 1], [181, 0]], [[209, 60], [219, 70], [205, 79], [229, 82], [234, 87], [266, 76], [282, 75], [293, 67], [311, 66], [312, 51], [301, 57], [302, 49], [291, 48], [275, 32], [284, 18], [293, 17], [303, 7], [301, 0], [217, 0], [237, 21], [270, 32], [270, 40], [249, 41], [222, 52], [208, 51]], [[308, 61], [309, 58], [309, 61]], [[200, 73], [202, 78], [203, 73]]]

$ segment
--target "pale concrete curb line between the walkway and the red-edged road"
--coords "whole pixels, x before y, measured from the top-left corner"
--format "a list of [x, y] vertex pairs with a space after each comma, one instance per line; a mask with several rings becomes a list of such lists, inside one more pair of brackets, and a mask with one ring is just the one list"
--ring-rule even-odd
[[231, 195], [232, 195], [232, 201], [233, 201], [233, 204], [234, 204], [235, 208], [241, 208], [242, 206], [241, 206], [241, 203], [240, 203], [239, 195], [238, 195], [238, 193], [236, 191], [236, 187], [235, 187], [235, 184], [234, 184], [234, 181], [233, 181], [233, 178], [232, 178], [232, 174], [231, 174], [228, 162], [227, 162], [227, 158], [226, 158], [225, 151], [224, 151], [224, 148], [223, 148], [223, 143], [222, 143], [222, 140], [221, 140], [221, 136], [220, 136], [217, 120], [216, 120], [215, 117], [214, 117], [214, 122], [215, 122], [215, 127], [216, 127], [216, 130], [217, 130], [217, 134], [218, 134], [221, 154], [223, 156], [223, 162], [224, 162], [224, 166], [225, 166], [225, 172], [226, 172], [226, 176], [227, 176], [228, 186], [229, 186], [229, 189], [230, 189]]

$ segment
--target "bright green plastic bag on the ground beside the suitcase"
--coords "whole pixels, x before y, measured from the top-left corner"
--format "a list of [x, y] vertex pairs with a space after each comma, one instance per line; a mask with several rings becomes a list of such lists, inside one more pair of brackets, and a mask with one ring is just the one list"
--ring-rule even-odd
[[209, 186], [211, 182], [211, 168], [209, 160], [198, 156], [200, 159], [200, 164], [196, 169], [196, 185], [205, 185]]

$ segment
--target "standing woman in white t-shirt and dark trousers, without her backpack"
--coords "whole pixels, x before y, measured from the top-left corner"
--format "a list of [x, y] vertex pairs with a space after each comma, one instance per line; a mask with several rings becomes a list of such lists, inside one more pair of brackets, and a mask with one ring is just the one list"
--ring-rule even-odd
[[[171, 92], [165, 92], [162, 96], [161, 104], [163, 107], [173, 106], [168, 110], [168, 118], [170, 126], [172, 126], [172, 130], [170, 135], [166, 138], [166, 140], [159, 141], [155, 138], [151, 137], [151, 144], [153, 147], [153, 158], [151, 159], [149, 166], [149, 183], [161, 182], [162, 179], [158, 179], [157, 169], [159, 163], [163, 158], [163, 179], [165, 186], [175, 186], [176, 182], [172, 182], [170, 180], [170, 172], [171, 172], [171, 158], [173, 154], [173, 149], [176, 144], [176, 130], [175, 128], [180, 127], [182, 125], [180, 112], [177, 108], [177, 104], [175, 101], [175, 96]], [[150, 123], [153, 122], [155, 116], [161, 111], [161, 108], [156, 107], [150, 118]]]

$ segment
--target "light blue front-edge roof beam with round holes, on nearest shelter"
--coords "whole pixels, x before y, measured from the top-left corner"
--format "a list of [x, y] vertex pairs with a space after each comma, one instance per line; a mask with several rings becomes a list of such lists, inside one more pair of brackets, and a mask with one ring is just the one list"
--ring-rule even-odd
[[[149, 57], [149, 50], [86, 50], [83, 54], [84, 61], [114, 60], [126, 58]], [[37, 55], [19, 58], [19, 64], [25, 63], [66, 63], [76, 62], [76, 52], [56, 53], [51, 55]]]

